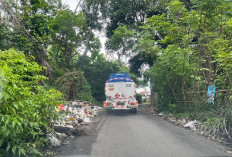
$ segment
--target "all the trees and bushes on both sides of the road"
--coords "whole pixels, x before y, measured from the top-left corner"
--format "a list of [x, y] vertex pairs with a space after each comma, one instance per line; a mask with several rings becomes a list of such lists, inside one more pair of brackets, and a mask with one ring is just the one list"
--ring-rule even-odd
[[55, 106], [100, 105], [113, 72], [130, 73], [137, 85], [150, 81], [158, 111], [231, 138], [230, 0], [80, 2], [72, 11], [61, 0], [0, 0], [0, 154], [42, 155]]

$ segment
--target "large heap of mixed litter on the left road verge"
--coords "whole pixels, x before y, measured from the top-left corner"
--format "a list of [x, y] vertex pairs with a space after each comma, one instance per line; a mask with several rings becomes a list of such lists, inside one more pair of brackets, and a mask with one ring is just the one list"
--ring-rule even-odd
[[87, 135], [86, 127], [102, 108], [87, 101], [69, 101], [66, 105], [57, 105], [56, 111], [60, 114], [60, 119], [53, 122], [55, 132], [47, 135], [53, 147], [68, 144], [65, 141], [67, 138]]

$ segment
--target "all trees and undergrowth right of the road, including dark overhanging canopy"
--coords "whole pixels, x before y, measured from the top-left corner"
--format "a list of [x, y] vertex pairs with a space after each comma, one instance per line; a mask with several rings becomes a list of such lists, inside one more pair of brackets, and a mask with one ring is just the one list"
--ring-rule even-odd
[[[102, 17], [110, 19], [107, 48], [118, 60], [132, 54], [130, 70], [151, 82], [158, 111], [197, 119], [207, 134], [231, 138], [231, 1], [87, 4], [100, 6]], [[144, 65], [149, 67], [146, 72]], [[216, 96], [209, 104], [207, 89], [212, 84]]]

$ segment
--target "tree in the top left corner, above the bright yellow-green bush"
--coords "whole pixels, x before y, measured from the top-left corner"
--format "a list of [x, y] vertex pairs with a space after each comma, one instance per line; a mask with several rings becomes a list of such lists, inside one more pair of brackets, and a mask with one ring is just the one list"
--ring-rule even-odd
[[48, 45], [46, 43], [49, 39], [49, 19], [59, 1], [1, 0], [0, 3], [10, 17], [8, 22], [13, 26], [14, 33], [10, 38], [12, 46], [19, 48], [27, 55], [34, 55], [40, 65], [47, 67], [46, 75], [52, 78], [53, 69], [47, 61]]

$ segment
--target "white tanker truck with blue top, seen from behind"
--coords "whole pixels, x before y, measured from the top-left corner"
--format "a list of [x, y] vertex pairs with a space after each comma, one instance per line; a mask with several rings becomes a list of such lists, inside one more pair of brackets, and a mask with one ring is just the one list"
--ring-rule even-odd
[[110, 110], [137, 112], [136, 85], [127, 73], [112, 73], [105, 83], [106, 101], [103, 107]]

